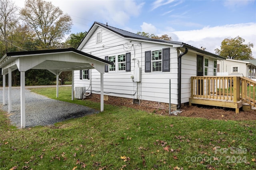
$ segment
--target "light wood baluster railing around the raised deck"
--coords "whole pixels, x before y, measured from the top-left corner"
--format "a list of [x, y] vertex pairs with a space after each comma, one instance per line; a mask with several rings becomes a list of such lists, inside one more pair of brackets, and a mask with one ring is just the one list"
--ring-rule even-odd
[[244, 101], [256, 106], [256, 82], [239, 76], [191, 77], [190, 98]]

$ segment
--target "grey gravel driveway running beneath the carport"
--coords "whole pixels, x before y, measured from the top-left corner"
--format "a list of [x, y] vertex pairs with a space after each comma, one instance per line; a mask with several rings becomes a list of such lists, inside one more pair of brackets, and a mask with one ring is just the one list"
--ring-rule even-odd
[[[2, 96], [3, 91], [0, 90], [0, 109], [8, 112], [8, 88], [4, 106]], [[66, 119], [99, 112], [86, 106], [53, 100], [30, 90], [25, 91], [25, 98], [26, 127], [52, 125]], [[8, 116], [12, 125], [20, 127], [20, 89], [12, 89], [12, 112]]]

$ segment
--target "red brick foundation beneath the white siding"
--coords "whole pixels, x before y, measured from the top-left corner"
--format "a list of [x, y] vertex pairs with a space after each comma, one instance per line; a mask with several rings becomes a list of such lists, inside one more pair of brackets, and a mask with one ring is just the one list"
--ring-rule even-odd
[[[98, 98], [100, 99], [100, 94], [92, 94], [91, 96], [92, 98]], [[136, 102], [134, 102], [134, 99], [130, 99], [130, 98], [122, 98], [122, 97], [116, 97], [116, 96], [107, 96], [104, 95], [104, 100], [108, 100], [108, 101], [113, 101], [113, 102], [122, 102], [125, 104], [136, 104]], [[181, 107], [184, 107], [186, 104], [181, 104]], [[153, 107], [156, 109], [166, 109], [169, 110], [169, 104], [168, 103], [162, 103], [162, 102], [153, 102], [153, 101], [148, 101], [148, 100], [140, 100], [140, 106], [148, 106], [148, 107]], [[171, 109], [172, 111], [177, 110], [177, 105], [176, 104], [171, 104]]]

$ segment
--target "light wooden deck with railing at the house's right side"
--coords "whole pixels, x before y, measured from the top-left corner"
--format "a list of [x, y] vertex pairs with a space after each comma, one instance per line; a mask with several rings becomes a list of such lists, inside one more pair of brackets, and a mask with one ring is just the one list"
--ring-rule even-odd
[[[189, 105], [201, 104], [249, 110], [256, 108], [256, 82], [244, 77], [191, 77]], [[245, 106], [245, 104], [247, 106]]]

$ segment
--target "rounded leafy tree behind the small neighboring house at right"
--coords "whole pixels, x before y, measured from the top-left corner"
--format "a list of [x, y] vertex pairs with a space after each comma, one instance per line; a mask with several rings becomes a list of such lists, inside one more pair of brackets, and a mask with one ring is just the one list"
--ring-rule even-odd
[[237, 36], [235, 38], [225, 38], [221, 42], [220, 49], [215, 49], [215, 53], [227, 59], [246, 60], [253, 59], [252, 49], [253, 44], [244, 44], [244, 39]]

